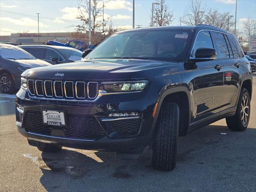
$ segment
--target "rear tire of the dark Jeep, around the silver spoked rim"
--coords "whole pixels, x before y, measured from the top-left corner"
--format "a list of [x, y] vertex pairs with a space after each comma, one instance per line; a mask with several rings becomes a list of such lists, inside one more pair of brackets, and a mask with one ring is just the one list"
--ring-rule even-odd
[[[247, 98], [247, 102], [248, 102], [248, 108], [244, 109], [244, 112], [246, 112], [246, 114], [248, 114], [248, 116], [246, 116], [245, 118], [245, 114], [243, 112], [243, 103], [244, 103], [244, 98]], [[226, 118], [226, 123], [228, 125], [228, 128], [232, 131], [244, 131], [246, 130], [248, 124], [249, 124], [249, 120], [250, 120], [250, 94], [248, 92], [248, 90], [246, 88], [243, 88], [240, 96], [239, 96], [239, 100], [238, 100], [238, 105], [237, 105], [237, 109], [236, 109], [236, 114], [232, 117], [228, 117]], [[242, 117], [244, 116], [244, 117]], [[244, 120], [246, 119], [246, 122], [244, 122]]]

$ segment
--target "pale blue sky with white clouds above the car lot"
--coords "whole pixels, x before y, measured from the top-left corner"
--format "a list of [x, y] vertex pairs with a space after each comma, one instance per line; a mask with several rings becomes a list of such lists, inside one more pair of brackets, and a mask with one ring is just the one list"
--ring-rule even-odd
[[[135, 0], [135, 25], [149, 26], [152, 2]], [[235, 15], [235, 0], [203, 0], [203, 3]], [[168, 0], [168, 4], [174, 14], [172, 25], [179, 25], [188, 0]], [[74, 26], [80, 24], [76, 19], [77, 7], [77, 0], [0, 0], [0, 35], [37, 32], [36, 13], [40, 13], [40, 32], [73, 32]], [[132, 0], [111, 0], [105, 4], [105, 13], [106, 17], [112, 17], [113, 27], [132, 27]], [[238, 29], [248, 17], [256, 18], [256, 0], [238, 0]]]

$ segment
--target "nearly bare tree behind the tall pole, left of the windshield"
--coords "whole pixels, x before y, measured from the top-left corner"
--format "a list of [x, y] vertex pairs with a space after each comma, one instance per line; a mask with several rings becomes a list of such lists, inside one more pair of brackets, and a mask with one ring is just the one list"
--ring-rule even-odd
[[[82, 21], [81, 25], [77, 26], [78, 32], [84, 32], [89, 29], [89, 0], [78, 0], [78, 19]], [[102, 28], [102, 5], [100, 0], [91, 0], [91, 30], [94, 33]], [[106, 22], [104, 22], [106, 25]]]

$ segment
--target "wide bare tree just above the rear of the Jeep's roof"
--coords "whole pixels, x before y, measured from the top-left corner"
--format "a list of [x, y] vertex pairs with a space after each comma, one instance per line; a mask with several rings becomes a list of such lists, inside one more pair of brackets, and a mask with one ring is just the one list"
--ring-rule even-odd
[[204, 23], [207, 25], [212, 25], [224, 30], [230, 30], [235, 24], [234, 19], [230, 16], [230, 12], [220, 13], [216, 9], [210, 9], [204, 18]]

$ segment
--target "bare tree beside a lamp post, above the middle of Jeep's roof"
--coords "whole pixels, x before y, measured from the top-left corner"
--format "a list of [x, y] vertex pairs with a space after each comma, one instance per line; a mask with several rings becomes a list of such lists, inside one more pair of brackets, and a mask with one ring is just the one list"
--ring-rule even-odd
[[[154, 26], [168, 26], [173, 21], [173, 12], [170, 10], [166, 0], [154, 0], [159, 5], [154, 9]], [[152, 10], [151, 10], [152, 11]], [[150, 16], [150, 20], [151, 20]]]

